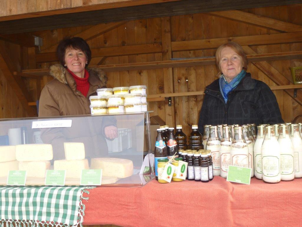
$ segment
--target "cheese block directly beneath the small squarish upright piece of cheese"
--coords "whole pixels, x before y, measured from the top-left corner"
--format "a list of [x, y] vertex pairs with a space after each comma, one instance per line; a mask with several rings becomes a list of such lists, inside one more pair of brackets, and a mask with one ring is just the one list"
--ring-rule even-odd
[[66, 170], [66, 178], [80, 178], [82, 169], [89, 169], [88, 160], [56, 160], [53, 163], [54, 170]]

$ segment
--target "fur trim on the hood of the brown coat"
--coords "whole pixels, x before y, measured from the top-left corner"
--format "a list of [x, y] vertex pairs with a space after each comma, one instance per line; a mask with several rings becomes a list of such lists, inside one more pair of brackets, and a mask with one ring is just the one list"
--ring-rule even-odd
[[[106, 76], [106, 73], [102, 69], [88, 68], [87, 71], [89, 73], [89, 79], [93, 79], [93, 77], [99, 78], [103, 86], [106, 86], [108, 78]], [[65, 76], [66, 72], [68, 71], [61, 64], [54, 64], [50, 66], [50, 75], [63, 84], [68, 84]]]

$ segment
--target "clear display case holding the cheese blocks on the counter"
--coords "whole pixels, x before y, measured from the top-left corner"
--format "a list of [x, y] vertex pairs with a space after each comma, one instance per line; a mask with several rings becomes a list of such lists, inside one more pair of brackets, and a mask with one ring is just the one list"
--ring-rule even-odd
[[82, 169], [102, 169], [102, 186], [143, 186], [154, 177], [150, 142], [149, 112], [2, 119], [0, 185], [9, 170], [25, 170], [33, 186], [45, 185], [47, 170], [80, 185]]

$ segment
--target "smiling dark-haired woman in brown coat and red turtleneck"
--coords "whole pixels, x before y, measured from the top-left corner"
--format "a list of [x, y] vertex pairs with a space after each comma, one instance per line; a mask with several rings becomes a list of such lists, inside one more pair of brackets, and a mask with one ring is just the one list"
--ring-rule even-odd
[[[88, 64], [91, 60], [91, 50], [86, 41], [80, 37], [62, 40], [57, 47], [57, 57], [61, 64], [55, 64], [50, 67], [50, 75], [54, 77], [54, 80], [47, 83], [41, 91], [39, 117], [90, 114], [89, 97], [96, 95], [98, 88], [106, 87], [108, 80], [106, 74], [97, 68], [88, 69]], [[101, 124], [102, 140], [104, 140], [104, 137], [110, 140], [117, 137], [118, 130], [115, 125], [116, 121], [112, 117], [108, 116], [106, 121], [103, 120]], [[81, 129], [79, 128], [78, 130]], [[81, 142], [79, 135], [67, 133], [68, 136], [66, 137], [61, 131], [56, 130], [56, 133], [54, 133], [54, 129], [43, 130], [41, 134], [41, 139], [44, 143], [50, 143], [51, 141], [53, 146], [60, 146], [56, 150], [61, 151], [56, 152], [57, 156], [55, 159], [64, 159], [64, 152], [62, 154], [63, 142], [68, 140], [70, 142]], [[73, 129], [72, 131], [75, 130]], [[80, 133], [82, 133], [82, 137], [94, 136], [86, 134], [90, 132]], [[56, 141], [55, 145], [54, 140]], [[94, 141], [90, 142], [95, 143]], [[106, 144], [105, 140], [102, 144]], [[88, 143], [87, 146], [89, 146]], [[87, 150], [86, 144], [85, 150]]]

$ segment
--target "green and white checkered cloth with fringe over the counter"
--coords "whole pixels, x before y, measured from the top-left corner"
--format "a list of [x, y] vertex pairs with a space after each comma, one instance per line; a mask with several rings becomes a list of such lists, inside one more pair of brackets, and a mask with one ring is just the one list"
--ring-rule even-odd
[[[94, 187], [0, 187], [0, 224], [82, 226], [85, 189]], [[12, 226], [12, 225], [11, 225]], [[29, 225], [28, 225], [29, 226]]]

